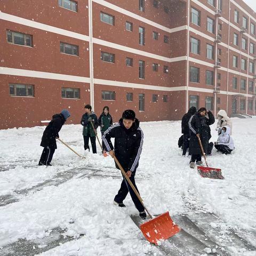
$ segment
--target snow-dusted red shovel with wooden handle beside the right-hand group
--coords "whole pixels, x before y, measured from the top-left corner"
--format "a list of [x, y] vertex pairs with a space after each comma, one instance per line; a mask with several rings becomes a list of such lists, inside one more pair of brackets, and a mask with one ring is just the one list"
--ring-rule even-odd
[[197, 171], [198, 171], [198, 173], [199, 173], [199, 174], [201, 175], [201, 177], [203, 177], [203, 178], [210, 178], [210, 179], [220, 179], [220, 180], [223, 180], [224, 177], [222, 176], [221, 169], [209, 167], [209, 165], [208, 165], [208, 163], [207, 163], [207, 161], [206, 161], [206, 156], [205, 156], [205, 153], [204, 153], [204, 148], [203, 148], [203, 145], [202, 145], [200, 136], [198, 135], [197, 138], [198, 138], [198, 141], [199, 141], [199, 145], [200, 145], [200, 147], [201, 147], [202, 154], [203, 154], [203, 156], [204, 156], [205, 164], [206, 164], [206, 166], [207, 166], [207, 167], [204, 167], [204, 166], [197, 166]]

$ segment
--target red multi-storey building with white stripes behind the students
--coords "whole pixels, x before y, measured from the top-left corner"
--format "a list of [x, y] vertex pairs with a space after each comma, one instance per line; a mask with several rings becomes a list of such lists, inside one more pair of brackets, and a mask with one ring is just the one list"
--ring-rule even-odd
[[242, 0], [0, 0], [0, 129], [84, 106], [117, 122], [191, 106], [255, 115], [256, 14]]

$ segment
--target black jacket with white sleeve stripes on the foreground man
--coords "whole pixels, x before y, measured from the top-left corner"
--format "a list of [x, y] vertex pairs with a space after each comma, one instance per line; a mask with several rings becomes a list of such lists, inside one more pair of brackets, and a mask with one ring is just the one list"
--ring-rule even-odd
[[[126, 129], [123, 119], [114, 124], [103, 134], [102, 140], [107, 151], [113, 150], [111, 138], [115, 138], [115, 156], [125, 171], [135, 171], [139, 165], [143, 145], [143, 132], [139, 127], [140, 121], [135, 118], [130, 129]], [[116, 164], [117, 169], [118, 166]]]

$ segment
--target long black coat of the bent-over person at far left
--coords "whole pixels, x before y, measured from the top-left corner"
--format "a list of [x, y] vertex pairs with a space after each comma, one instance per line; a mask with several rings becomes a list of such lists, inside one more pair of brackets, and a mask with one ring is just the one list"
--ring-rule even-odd
[[62, 114], [52, 116], [52, 121], [46, 126], [40, 146], [57, 148], [56, 137], [59, 138], [59, 131], [65, 123], [65, 117]]

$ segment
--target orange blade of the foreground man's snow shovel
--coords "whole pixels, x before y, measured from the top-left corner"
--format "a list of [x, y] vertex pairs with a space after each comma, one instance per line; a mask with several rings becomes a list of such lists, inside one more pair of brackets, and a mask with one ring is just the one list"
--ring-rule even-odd
[[146, 239], [153, 244], [157, 244], [159, 239], [168, 239], [180, 231], [172, 221], [169, 212], [141, 224], [140, 229]]

